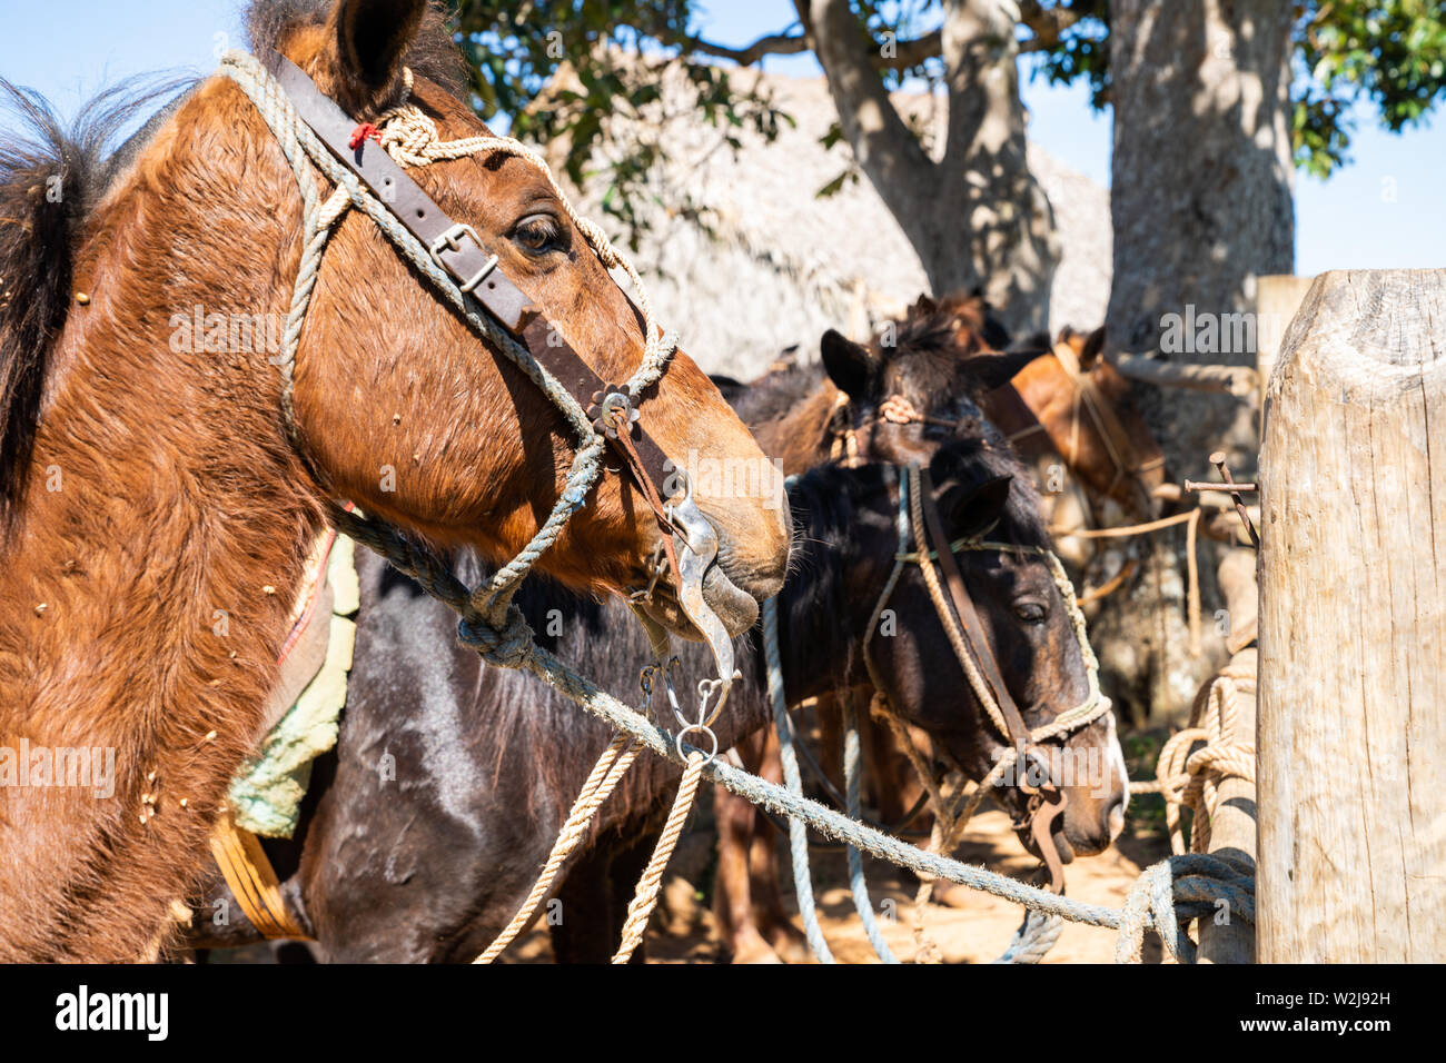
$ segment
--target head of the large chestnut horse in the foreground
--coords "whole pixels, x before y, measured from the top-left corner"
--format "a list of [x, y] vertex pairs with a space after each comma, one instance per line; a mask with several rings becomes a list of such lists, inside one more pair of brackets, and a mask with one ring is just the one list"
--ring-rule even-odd
[[[408, 166], [408, 176], [476, 231], [496, 270], [545, 320], [548, 343], [568, 344], [602, 380], [628, 380], [645, 353], [643, 314], [609, 275], [594, 231], [534, 158], [461, 150], [492, 133], [458, 91], [455, 49], [440, 19], [424, 0], [337, 0], [314, 16], [253, 19], [253, 45], [275, 46], [362, 130], [383, 123], [385, 132], [385, 116], [405, 101], [414, 108], [408, 136], [419, 129], [427, 142], [460, 146], [455, 158], [442, 150]], [[214, 136], [205, 126], [215, 119], [246, 130], [237, 150], [263, 163], [247, 181], [282, 218], [279, 273], [292, 275], [302, 252], [299, 204], [275, 137], [230, 82], [208, 82], [198, 95], [192, 137]], [[359, 150], [382, 148], [363, 133]], [[405, 150], [427, 158], [425, 142], [409, 140]], [[357, 210], [341, 218], [325, 250], [294, 388], [296, 424], [327, 492], [442, 547], [510, 558], [565, 487], [577, 438], [558, 408], [421, 282]], [[766, 479], [766, 458], [687, 354], [672, 354], [636, 412], [678, 469], [727, 461], [763, 470], [755, 483]], [[609, 464], [622, 466], [613, 458]], [[778, 492], [691, 486], [719, 532], [704, 597], [736, 633], [755, 619], [755, 599], [782, 580], [787, 531]], [[638, 483], [604, 473], [538, 565], [570, 586], [625, 594], [652, 581], [659, 537]], [[652, 599], [658, 619], [685, 631], [675, 596], [667, 584], [661, 592]]]

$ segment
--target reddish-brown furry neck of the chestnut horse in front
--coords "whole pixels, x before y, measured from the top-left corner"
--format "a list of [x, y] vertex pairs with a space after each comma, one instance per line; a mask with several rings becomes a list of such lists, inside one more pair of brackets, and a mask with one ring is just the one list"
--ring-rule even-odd
[[54, 787], [0, 814], [0, 866], [27, 884], [0, 894], [0, 957], [129, 960], [165, 924], [253, 748], [320, 528], [266, 351], [179, 338], [197, 307], [283, 311], [295, 191], [234, 142], [161, 139], [77, 262], [91, 299], [56, 340], [0, 567], [0, 746], [113, 749], [114, 795]]

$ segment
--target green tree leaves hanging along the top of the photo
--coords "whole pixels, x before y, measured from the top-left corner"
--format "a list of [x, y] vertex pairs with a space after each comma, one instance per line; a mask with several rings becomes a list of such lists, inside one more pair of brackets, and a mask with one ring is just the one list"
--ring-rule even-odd
[[[693, 113], [720, 132], [724, 146], [736, 150], [742, 130], [775, 139], [791, 119], [735, 68], [710, 61], [696, 26], [700, 10], [701, 0], [458, 0], [474, 106], [483, 119], [508, 116], [516, 136], [565, 142], [564, 169], [574, 182], [594, 165], [606, 116], [661, 107], [658, 80], [671, 65], [683, 69]], [[855, 13], [886, 56], [888, 48], [936, 29], [941, 3], [855, 0]], [[768, 29], [759, 26], [761, 35]], [[1109, 106], [1109, 32], [1108, 0], [1019, 0], [1019, 49], [1032, 75], [1051, 84], [1084, 78], [1096, 108]], [[938, 84], [937, 52], [910, 52], [907, 62], [886, 65], [885, 84]], [[1400, 132], [1446, 93], [1446, 1], [1296, 0], [1290, 75], [1296, 163], [1327, 176], [1349, 159], [1353, 114], [1374, 111]], [[630, 202], [661, 158], [648, 124], [632, 123], [633, 140], [609, 145], [600, 163], [612, 181], [604, 210], [630, 230], [642, 224]], [[820, 194], [836, 192], [847, 178]]]

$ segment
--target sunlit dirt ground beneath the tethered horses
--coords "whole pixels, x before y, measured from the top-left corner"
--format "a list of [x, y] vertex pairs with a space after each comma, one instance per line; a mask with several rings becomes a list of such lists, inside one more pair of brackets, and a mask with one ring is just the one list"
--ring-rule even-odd
[[[700, 800], [700, 804], [706, 801]], [[701, 826], [701, 824], [700, 824]], [[710, 875], [711, 832], [706, 829], [690, 832], [680, 843], [674, 874], [665, 888], [662, 902], [648, 930], [648, 960], [652, 963], [717, 963], [723, 960], [723, 949], [717, 926], [698, 882]], [[1138, 820], [1126, 824], [1125, 834], [1108, 852], [1099, 856], [1082, 858], [1066, 868], [1067, 895], [1092, 904], [1119, 907], [1125, 891], [1139, 872], [1167, 856], [1168, 842]], [[969, 827], [969, 840], [960, 848], [959, 858], [969, 863], [983, 865], [1015, 878], [1027, 879], [1038, 866], [1025, 855], [1009, 830], [1008, 817], [998, 810], [980, 811]], [[834, 959], [840, 963], [876, 963], [853, 910], [849, 895], [847, 871], [842, 852], [816, 850], [811, 856], [814, 869], [814, 891], [818, 897], [820, 921]], [[779, 862], [785, 876], [785, 902], [792, 913], [792, 887], [787, 853]], [[865, 858], [865, 874], [875, 910], [884, 915], [881, 927], [894, 953], [910, 962], [914, 944], [914, 894], [918, 887], [912, 876], [899, 872], [892, 865]], [[937, 889], [937, 887], [936, 887]], [[894, 904], [889, 905], [888, 901]], [[946, 963], [986, 963], [995, 959], [1009, 943], [1019, 926], [1021, 910], [988, 894], [956, 887], [949, 897], [950, 904], [930, 904], [925, 914], [925, 930], [938, 946]], [[957, 905], [957, 907], [954, 907]], [[888, 918], [892, 908], [894, 918]], [[794, 924], [803, 923], [794, 914]], [[1155, 947], [1155, 956], [1147, 949], [1147, 962], [1158, 957], [1158, 943], [1147, 939], [1147, 946]], [[1045, 963], [1111, 963], [1113, 962], [1115, 936], [1079, 923], [1067, 923], [1058, 943], [1045, 957]], [[545, 930], [535, 930], [509, 950], [513, 962], [548, 963], [552, 950]], [[805, 956], [803, 962], [811, 962]]]

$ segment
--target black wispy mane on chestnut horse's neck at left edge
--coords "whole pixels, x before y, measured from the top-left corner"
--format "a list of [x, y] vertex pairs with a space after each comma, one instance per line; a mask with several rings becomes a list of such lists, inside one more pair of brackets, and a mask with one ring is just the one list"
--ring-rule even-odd
[[178, 82], [123, 81], [65, 121], [45, 98], [0, 80], [0, 531], [20, 508], [51, 349], [71, 305], [75, 256], [108, 178], [107, 149]]

